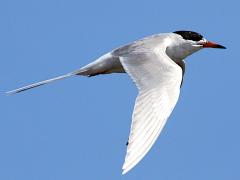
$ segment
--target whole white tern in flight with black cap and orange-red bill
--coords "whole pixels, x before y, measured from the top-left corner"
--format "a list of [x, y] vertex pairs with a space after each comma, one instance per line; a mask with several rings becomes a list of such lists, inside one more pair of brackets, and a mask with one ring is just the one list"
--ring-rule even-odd
[[77, 71], [34, 83], [7, 94], [19, 93], [73, 75], [127, 73], [138, 88], [123, 174], [150, 150], [173, 111], [184, 75], [184, 59], [202, 48], [222, 48], [192, 31], [145, 37], [117, 48]]

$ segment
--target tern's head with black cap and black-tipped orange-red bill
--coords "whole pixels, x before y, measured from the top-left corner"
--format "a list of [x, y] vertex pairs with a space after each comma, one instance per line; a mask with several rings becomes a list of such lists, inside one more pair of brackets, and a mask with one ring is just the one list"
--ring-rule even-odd
[[172, 43], [167, 48], [167, 54], [176, 61], [183, 60], [202, 48], [226, 49], [226, 47], [208, 41], [201, 34], [193, 31], [175, 31], [171, 38]]

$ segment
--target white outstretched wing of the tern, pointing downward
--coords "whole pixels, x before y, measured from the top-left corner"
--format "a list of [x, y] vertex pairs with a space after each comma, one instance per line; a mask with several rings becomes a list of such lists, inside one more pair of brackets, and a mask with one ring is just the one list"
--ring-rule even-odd
[[123, 174], [150, 150], [179, 97], [182, 69], [165, 50], [136, 52], [120, 57], [139, 94], [132, 115]]

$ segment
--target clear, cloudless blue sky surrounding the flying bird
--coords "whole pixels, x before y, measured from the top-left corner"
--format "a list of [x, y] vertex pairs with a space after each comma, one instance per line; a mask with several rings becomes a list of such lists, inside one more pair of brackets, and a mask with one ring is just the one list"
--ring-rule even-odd
[[[240, 179], [239, 6], [236, 0], [2, 0], [0, 179]], [[126, 74], [73, 77], [4, 95], [138, 38], [183, 29], [228, 49], [187, 59], [174, 112], [148, 155], [124, 176], [137, 95]]]

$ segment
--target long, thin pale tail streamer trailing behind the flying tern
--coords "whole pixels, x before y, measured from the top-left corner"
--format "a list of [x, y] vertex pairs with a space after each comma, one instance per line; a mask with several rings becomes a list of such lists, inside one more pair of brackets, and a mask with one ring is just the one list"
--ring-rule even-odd
[[8, 92], [6, 92], [6, 94], [12, 95], [12, 94], [20, 93], [22, 91], [26, 91], [28, 89], [32, 89], [32, 88], [35, 88], [35, 87], [38, 87], [38, 86], [42, 86], [44, 84], [48, 84], [48, 83], [53, 82], [53, 81], [61, 80], [61, 79], [64, 79], [64, 78], [67, 78], [67, 77], [70, 77], [70, 76], [73, 76], [73, 75], [75, 75], [75, 74], [74, 73], [65, 74], [65, 75], [58, 76], [58, 77], [48, 79], [48, 80], [45, 80], [45, 81], [30, 84], [28, 86], [24, 86], [24, 87], [21, 87], [21, 88], [12, 90], [12, 91], [8, 91]]

